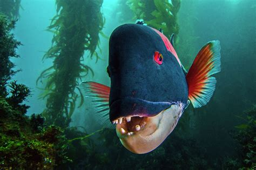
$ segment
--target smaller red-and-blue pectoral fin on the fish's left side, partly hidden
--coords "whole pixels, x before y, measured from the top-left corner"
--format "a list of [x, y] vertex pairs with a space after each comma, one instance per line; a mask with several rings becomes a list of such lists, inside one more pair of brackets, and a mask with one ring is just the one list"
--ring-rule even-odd
[[97, 117], [99, 123], [104, 127], [112, 127], [109, 120], [109, 94], [110, 87], [93, 81], [83, 81], [79, 85], [84, 97], [89, 98], [92, 102], [91, 107], [95, 111], [94, 116]]

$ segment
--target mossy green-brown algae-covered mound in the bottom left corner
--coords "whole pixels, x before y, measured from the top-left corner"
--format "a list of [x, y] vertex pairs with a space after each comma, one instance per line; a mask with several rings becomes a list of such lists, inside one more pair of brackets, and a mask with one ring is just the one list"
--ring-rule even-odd
[[42, 115], [29, 118], [0, 98], [0, 117], [0, 169], [52, 169], [71, 161], [63, 131], [45, 126]]

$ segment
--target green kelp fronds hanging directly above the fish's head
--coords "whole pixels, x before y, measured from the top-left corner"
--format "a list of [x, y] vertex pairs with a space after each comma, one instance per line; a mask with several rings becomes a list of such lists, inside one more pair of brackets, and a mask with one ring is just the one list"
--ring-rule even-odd
[[177, 13], [180, 8], [180, 0], [128, 0], [127, 5], [133, 11], [136, 19], [144, 19], [144, 22], [152, 28], [161, 29], [168, 38], [172, 33], [178, 35], [179, 26]]

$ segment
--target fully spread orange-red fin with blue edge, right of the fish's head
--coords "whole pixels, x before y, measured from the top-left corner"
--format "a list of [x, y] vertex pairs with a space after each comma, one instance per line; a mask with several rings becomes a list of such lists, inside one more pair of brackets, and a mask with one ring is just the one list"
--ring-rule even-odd
[[188, 99], [194, 108], [204, 106], [210, 101], [217, 82], [210, 76], [218, 72], [220, 72], [220, 43], [219, 40], [213, 40], [199, 51], [186, 75]]

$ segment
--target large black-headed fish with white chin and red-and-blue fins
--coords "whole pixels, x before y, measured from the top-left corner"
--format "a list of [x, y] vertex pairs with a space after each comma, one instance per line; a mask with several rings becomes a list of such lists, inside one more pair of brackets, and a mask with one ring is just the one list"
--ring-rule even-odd
[[[186, 71], [161, 30], [139, 21], [113, 30], [109, 40], [111, 85], [83, 81], [100, 122], [114, 125], [122, 145], [137, 154], [156, 149], [174, 130], [186, 107], [206, 105], [220, 72], [220, 42], [206, 43]], [[112, 124], [111, 124], [112, 123]]]

